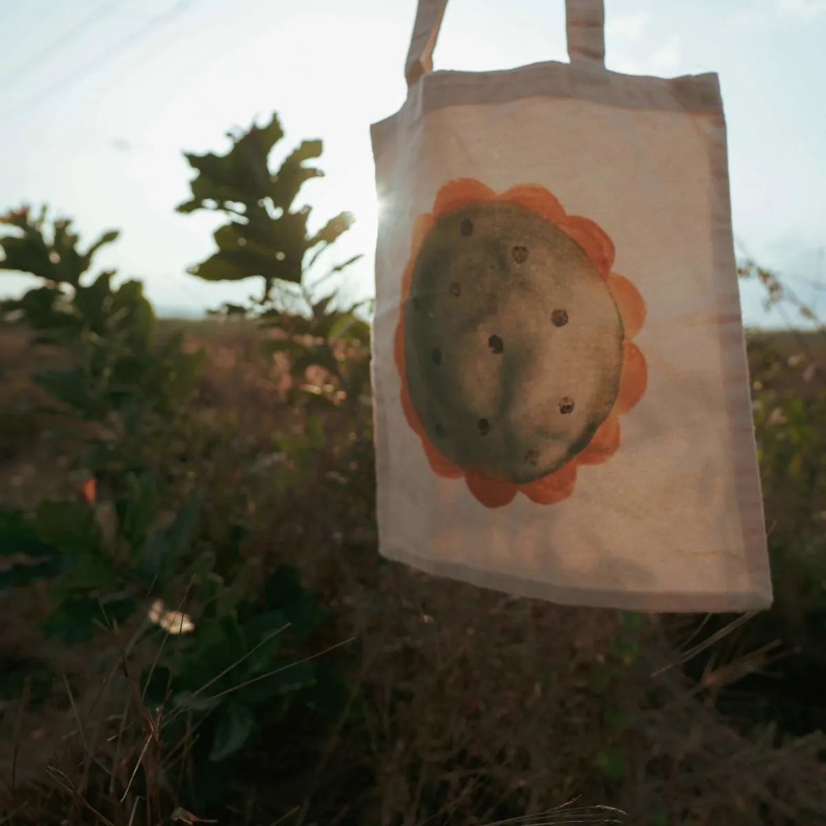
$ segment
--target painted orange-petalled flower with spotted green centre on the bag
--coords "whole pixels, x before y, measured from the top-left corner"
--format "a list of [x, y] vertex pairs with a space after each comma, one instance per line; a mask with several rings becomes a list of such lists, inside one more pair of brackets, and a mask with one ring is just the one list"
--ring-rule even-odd
[[394, 358], [401, 406], [439, 477], [482, 505], [570, 496], [619, 448], [643, 397], [645, 304], [614, 244], [548, 190], [444, 184], [415, 222]]

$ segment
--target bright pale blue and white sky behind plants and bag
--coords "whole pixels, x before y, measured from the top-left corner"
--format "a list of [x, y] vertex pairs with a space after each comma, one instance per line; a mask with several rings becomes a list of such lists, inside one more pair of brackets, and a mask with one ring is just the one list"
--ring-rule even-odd
[[[606, 64], [628, 74], [719, 73], [738, 249], [826, 315], [826, 0], [605, 0]], [[84, 242], [123, 231], [98, 268], [141, 278], [163, 314], [243, 301], [252, 284], [186, 273], [218, 216], [180, 216], [183, 151], [278, 112], [287, 137], [324, 140], [301, 199], [311, 228], [357, 223], [335, 259], [373, 293], [377, 210], [369, 126], [404, 102], [415, 0], [0, 0], [0, 211], [46, 202]], [[566, 60], [563, 0], [450, 0], [436, 69]], [[335, 262], [331, 262], [335, 263]], [[0, 296], [28, 286], [0, 272]], [[742, 285], [748, 325], [782, 325]]]

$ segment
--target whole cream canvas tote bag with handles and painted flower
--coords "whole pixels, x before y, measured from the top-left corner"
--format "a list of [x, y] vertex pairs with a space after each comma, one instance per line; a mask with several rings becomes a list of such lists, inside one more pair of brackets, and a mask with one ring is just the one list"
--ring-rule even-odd
[[381, 553], [549, 601], [771, 605], [718, 78], [432, 72], [372, 126]]

